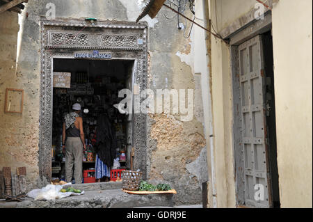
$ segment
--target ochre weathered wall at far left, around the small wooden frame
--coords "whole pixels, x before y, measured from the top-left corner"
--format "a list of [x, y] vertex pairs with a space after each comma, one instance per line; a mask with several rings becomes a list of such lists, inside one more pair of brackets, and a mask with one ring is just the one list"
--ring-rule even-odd
[[[0, 15], [0, 168], [26, 166], [27, 183], [36, 182], [38, 175], [38, 110], [33, 106], [38, 91], [31, 72], [16, 72], [17, 13]], [[35, 66], [32, 69], [36, 69]], [[24, 89], [22, 114], [4, 113], [6, 88]], [[38, 115], [37, 115], [38, 116]]]

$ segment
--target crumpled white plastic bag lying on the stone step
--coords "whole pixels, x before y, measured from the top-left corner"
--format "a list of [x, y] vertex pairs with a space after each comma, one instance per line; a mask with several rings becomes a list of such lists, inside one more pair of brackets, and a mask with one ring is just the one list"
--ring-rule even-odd
[[[64, 184], [63, 186], [67, 186], [70, 184], [71, 183]], [[42, 189], [33, 189], [32, 191], [29, 191], [29, 193], [27, 193], [27, 196], [35, 200], [57, 200], [61, 198], [66, 198], [67, 196], [81, 195], [85, 193], [84, 191], [82, 191], [81, 193], [72, 193], [72, 192], [63, 193], [61, 192], [63, 186], [48, 184], [46, 187]]]

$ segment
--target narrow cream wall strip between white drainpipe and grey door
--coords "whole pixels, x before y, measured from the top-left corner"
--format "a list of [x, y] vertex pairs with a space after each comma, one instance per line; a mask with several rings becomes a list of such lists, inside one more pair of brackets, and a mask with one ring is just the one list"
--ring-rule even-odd
[[[240, 7], [242, 6], [242, 7]], [[210, 1], [210, 17], [215, 31], [227, 29], [252, 8], [252, 1]], [[234, 10], [236, 9], [236, 10]], [[211, 31], [214, 32], [214, 29]], [[213, 155], [216, 175], [216, 207], [236, 207], [232, 133], [232, 75], [230, 48], [211, 35], [211, 90]]]

